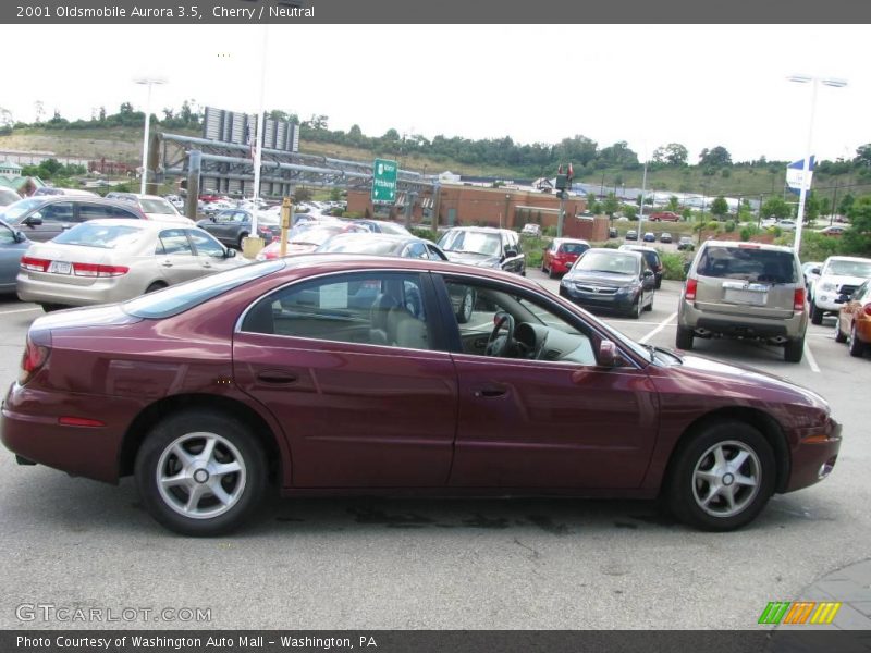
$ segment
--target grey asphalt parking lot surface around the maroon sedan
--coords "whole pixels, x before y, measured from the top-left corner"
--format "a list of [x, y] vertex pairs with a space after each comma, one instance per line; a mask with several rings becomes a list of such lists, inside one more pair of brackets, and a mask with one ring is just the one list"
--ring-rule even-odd
[[[529, 276], [556, 291], [559, 281]], [[679, 284], [664, 282], [627, 335], [672, 347]], [[0, 383], [19, 368], [41, 309], [0, 299]], [[871, 360], [834, 342], [832, 319], [808, 331], [803, 360], [781, 348], [697, 340], [699, 354], [811, 387], [832, 404], [844, 442], [832, 477], [775, 496], [744, 530], [674, 523], [649, 502], [273, 500], [242, 532], [194, 540], [120, 489], [20, 467], [0, 456], [0, 626], [20, 628], [741, 629], [770, 601], [868, 557], [871, 465], [863, 402]], [[836, 597], [837, 599], [837, 597]], [[207, 608], [208, 624], [17, 618], [22, 603]]]

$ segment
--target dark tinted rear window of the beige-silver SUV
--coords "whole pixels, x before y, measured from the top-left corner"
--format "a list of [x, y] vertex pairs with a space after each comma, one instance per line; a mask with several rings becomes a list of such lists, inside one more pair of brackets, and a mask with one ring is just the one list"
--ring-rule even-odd
[[741, 247], [708, 247], [696, 272], [702, 276], [796, 283], [795, 256], [788, 251]]

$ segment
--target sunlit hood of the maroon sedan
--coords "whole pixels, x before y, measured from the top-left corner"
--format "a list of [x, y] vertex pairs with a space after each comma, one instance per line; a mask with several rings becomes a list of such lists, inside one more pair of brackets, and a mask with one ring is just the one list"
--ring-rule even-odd
[[745, 394], [760, 402], [801, 404], [829, 411], [829, 403], [823, 397], [788, 379], [695, 354], [682, 352], [679, 356], [683, 365], [673, 369], [679, 370], [680, 374], [710, 383], [711, 392]]

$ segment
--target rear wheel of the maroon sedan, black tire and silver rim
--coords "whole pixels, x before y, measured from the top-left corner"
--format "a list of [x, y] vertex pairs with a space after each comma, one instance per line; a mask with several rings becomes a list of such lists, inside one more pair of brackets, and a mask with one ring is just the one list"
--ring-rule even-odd
[[[182, 457], [173, 444], [196, 457], [205, 449], [203, 433], [216, 441], [208, 460], [198, 468], [188, 463], [192, 476], [161, 490], [159, 475], [182, 475]], [[199, 451], [198, 445], [201, 445]], [[219, 475], [218, 468], [233, 463], [238, 470]], [[195, 478], [201, 471], [207, 471], [204, 479]], [[143, 503], [157, 521], [184, 535], [211, 537], [230, 532], [250, 517], [266, 490], [267, 463], [262, 447], [244, 423], [214, 410], [192, 408], [170, 415], [151, 429], [136, 454], [135, 475]], [[193, 505], [194, 510], [200, 510], [200, 517], [182, 513], [185, 509], [182, 504], [189, 505], [192, 498], [189, 488], [203, 493]], [[232, 503], [220, 505], [222, 502], [212, 488], [223, 491]], [[209, 510], [214, 516], [203, 516]]]

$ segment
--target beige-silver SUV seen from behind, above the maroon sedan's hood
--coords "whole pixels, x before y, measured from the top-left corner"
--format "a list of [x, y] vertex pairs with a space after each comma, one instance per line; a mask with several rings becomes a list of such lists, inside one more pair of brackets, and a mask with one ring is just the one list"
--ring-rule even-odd
[[689, 268], [677, 313], [678, 349], [695, 337], [739, 337], [784, 346], [799, 362], [808, 310], [798, 256], [788, 247], [708, 241]]

